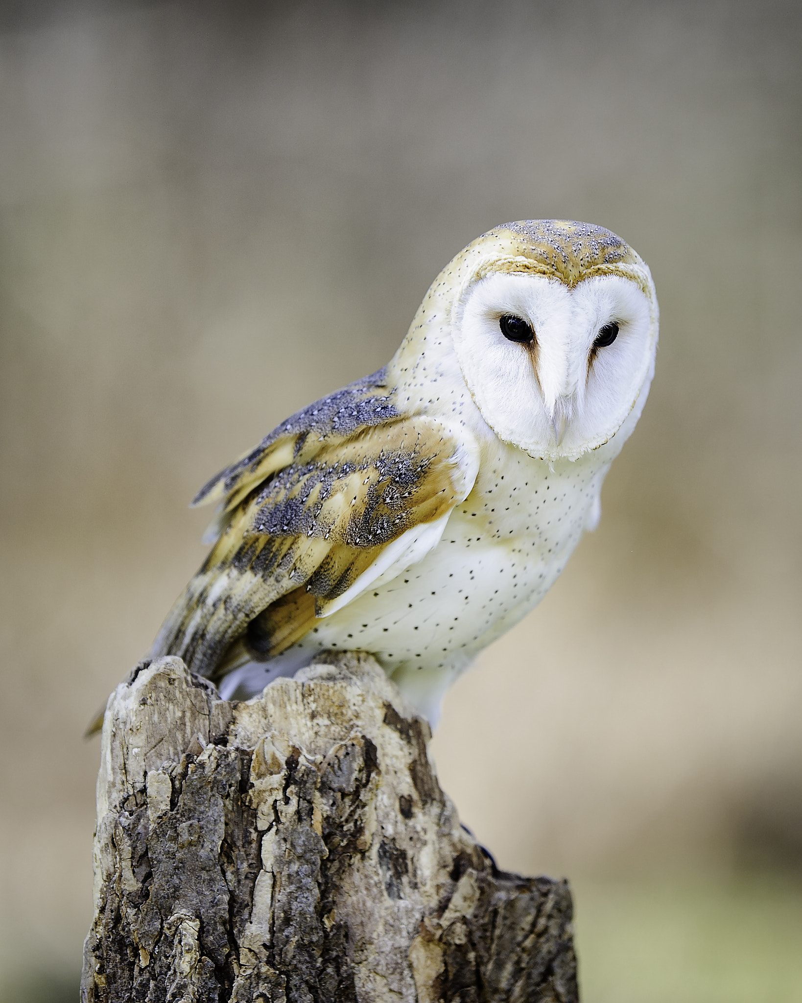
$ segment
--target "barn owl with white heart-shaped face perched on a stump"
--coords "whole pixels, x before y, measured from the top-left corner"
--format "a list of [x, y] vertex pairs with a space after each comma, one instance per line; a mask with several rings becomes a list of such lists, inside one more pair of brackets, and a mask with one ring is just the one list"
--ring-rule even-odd
[[322, 649], [370, 652], [433, 724], [477, 652], [548, 591], [641, 416], [658, 302], [602, 227], [469, 244], [378, 372], [209, 481], [212, 551], [151, 651], [249, 696]]

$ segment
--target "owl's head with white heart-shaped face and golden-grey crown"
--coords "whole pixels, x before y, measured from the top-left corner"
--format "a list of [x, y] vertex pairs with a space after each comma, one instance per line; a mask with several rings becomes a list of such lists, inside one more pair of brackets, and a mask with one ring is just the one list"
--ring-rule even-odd
[[635, 251], [602, 227], [525, 221], [484, 234], [449, 269], [453, 345], [496, 435], [548, 461], [614, 436], [620, 446], [658, 341], [655, 287]]

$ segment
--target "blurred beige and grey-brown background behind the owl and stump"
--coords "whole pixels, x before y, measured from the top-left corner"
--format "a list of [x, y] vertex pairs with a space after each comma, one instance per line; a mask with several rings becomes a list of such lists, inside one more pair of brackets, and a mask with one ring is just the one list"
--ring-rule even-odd
[[587, 1003], [802, 1000], [800, 51], [773, 0], [0, 4], [3, 999], [74, 998], [81, 734], [204, 557], [195, 489], [471, 239], [567, 217], [650, 263], [657, 377], [441, 781], [571, 877]]

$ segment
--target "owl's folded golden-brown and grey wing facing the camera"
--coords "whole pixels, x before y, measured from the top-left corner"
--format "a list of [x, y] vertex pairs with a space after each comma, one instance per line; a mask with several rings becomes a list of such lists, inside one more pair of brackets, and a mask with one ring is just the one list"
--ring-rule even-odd
[[435, 419], [402, 417], [389, 402], [383, 420], [337, 413], [337, 429], [290, 419], [204, 488], [197, 500], [223, 503], [222, 533], [152, 656], [179, 655], [193, 672], [216, 677], [233, 667], [226, 656], [235, 642], [267, 660], [316, 617], [436, 546], [473, 486], [475, 448]]

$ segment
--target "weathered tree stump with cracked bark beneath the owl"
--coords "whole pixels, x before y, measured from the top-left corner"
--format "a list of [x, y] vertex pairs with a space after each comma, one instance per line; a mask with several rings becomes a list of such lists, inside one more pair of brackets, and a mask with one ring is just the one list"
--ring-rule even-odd
[[463, 829], [373, 659], [247, 703], [177, 658], [106, 711], [83, 1001], [577, 999], [565, 882]]

